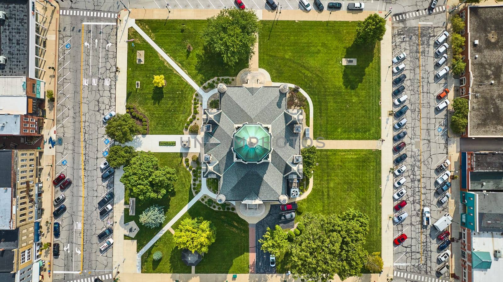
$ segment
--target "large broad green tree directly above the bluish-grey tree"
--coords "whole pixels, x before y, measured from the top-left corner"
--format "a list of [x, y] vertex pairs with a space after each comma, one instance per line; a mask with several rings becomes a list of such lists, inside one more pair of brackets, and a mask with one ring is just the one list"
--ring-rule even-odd
[[152, 153], [138, 152], [129, 166], [124, 167], [121, 182], [140, 200], [160, 199], [174, 189], [178, 177], [174, 169], [158, 165], [159, 160]]

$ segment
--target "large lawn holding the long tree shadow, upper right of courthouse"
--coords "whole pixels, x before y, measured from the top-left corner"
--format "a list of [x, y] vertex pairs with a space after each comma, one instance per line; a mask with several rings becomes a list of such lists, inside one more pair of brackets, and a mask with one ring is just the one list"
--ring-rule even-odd
[[[380, 47], [353, 44], [356, 24], [262, 22], [259, 67], [273, 81], [296, 84], [309, 94], [314, 137], [380, 138]], [[357, 59], [357, 65], [343, 66], [343, 58]]]

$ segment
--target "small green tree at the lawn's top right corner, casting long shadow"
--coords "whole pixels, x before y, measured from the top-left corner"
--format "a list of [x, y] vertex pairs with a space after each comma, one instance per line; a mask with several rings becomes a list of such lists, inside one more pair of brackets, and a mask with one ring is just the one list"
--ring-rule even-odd
[[386, 20], [378, 14], [368, 16], [363, 22], [358, 22], [356, 26], [357, 44], [375, 44], [381, 41], [386, 32]]

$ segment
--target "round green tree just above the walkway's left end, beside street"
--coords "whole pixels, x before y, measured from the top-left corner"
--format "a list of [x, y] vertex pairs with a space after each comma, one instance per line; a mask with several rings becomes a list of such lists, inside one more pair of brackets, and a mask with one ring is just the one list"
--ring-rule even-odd
[[139, 132], [140, 126], [127, 113], [117, 114], [105, 127], [105, 133], [121, 144], [132, 141], [133, 136]]

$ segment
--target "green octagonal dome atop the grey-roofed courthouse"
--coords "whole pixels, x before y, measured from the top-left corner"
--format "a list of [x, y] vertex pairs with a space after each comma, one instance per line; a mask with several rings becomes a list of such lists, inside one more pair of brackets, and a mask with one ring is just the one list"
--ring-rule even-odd
[[245, 162], [260, 162], [271, 152], [271, 134], [261, 124], [243, 124], [232, 142], [234, 152]]

